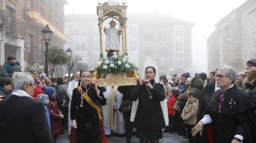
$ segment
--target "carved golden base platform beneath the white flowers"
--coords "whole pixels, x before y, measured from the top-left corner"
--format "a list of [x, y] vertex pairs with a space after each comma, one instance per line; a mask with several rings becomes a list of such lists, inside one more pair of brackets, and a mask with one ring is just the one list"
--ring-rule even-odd
[[98, 82], [99, 87], [107, 87], [136, 85], [137, 80], [141, 79], [141, 77], [138, 77], [138, 75], [135, 75], [134, 73], [108, 73], [106, 76], [103, 77], [104, 78], [100, 79], [90, 79], [90, 81]]

